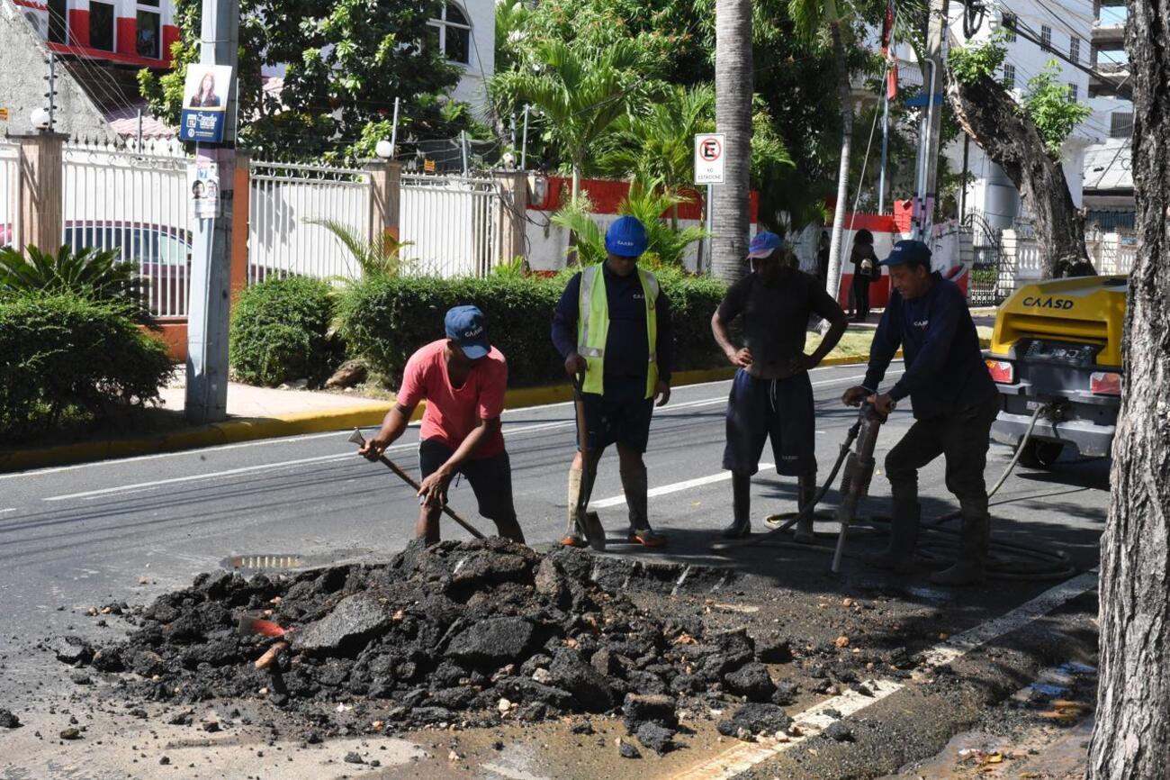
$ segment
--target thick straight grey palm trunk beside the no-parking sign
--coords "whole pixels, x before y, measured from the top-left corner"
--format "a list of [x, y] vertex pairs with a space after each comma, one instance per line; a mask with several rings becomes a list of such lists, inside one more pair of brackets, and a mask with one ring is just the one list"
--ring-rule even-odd
[[724, 134], [724, 178], [713, 194], [711, 269], [729, 283], [748, 271], [751, 94], [751, 2], [716, 0], [715, 125]]

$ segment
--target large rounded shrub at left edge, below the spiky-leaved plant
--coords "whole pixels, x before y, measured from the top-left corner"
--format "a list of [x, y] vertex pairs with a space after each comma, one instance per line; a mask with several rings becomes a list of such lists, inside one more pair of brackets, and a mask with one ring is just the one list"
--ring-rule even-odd
[[75, 292], [0, 296], [0, 433], [20, 440], [63, 416], [103, 419], [158, 398], [166, 345], [133, 307]]

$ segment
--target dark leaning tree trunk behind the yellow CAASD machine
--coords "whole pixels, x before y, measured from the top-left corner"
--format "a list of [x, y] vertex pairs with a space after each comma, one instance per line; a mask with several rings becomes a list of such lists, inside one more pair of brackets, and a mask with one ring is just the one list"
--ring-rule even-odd
[[1089, 264], [1085, 217], [1073, 206], [1065, 172], [1048, 156], [1035, 124], [1020, 114], [1016, 101], [994, 80], [982, 77], [963, 84], [950, 68], [943, 71], [947, 98], [959, 125], [1024, 196], [1040, 246], [1044, 278], [1064, 275], [1074, 264]]

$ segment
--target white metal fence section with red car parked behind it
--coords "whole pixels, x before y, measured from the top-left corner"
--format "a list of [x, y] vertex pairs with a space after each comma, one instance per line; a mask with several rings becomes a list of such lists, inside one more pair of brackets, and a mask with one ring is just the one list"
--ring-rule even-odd
[[187, 315], [191, 227], [187, 158], [105, 145], [66, 144], [62, 151], [62, 244], [117, 249], [138, 265], [150, 310]]

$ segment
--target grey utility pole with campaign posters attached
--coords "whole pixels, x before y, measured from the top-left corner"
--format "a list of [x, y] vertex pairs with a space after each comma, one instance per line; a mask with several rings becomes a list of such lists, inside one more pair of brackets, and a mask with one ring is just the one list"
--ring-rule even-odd
[[195, 164], [216, 166], [219, 214], [195, 217], [191, 251], [191, 303], [187, 316], [186, 416], [195, 424], [227, 417], [227, 336], [232, 307], [232, 180], [235, 176], [236, 50], [240, 35], [240, 4], [204, 0], [199, 63], [230, 66], [232, 81], [223, 111], [222, 143], [200, 143]]

